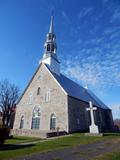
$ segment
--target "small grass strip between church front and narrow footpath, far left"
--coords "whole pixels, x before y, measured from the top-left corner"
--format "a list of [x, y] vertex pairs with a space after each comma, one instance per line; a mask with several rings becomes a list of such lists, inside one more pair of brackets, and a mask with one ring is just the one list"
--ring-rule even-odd
[[17, 143], [32, 142], [32, 141], [38, 141], [38, 140], [41, 140], [41, 139], [35, 138], [35, 137], [14, 136], [11, 139], [7, 139], [5, 141], [5, 144], [17, 144]]

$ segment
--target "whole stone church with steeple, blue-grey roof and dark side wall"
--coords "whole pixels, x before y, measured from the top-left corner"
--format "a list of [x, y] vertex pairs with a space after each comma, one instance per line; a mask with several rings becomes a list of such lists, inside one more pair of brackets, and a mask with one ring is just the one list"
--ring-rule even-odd
[[46, 137], [47, 133], [58, 130], [61, 133], [88, 131], [89, 101], [97, 107], [94, 117], [99, 130], [111, 130], [111, 110], [89, 89], [61, 74], [53, 17], [44, 47], [43, 58], [19, 98], [13, 134]]

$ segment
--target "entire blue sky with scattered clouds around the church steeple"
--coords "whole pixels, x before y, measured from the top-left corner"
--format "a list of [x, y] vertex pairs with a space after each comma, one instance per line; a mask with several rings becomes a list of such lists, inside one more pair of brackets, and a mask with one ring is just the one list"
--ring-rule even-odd
[[61, 71], [120, 118], [120, 0], [0, 0], [0, 79], [25, 88], [52, 10]]

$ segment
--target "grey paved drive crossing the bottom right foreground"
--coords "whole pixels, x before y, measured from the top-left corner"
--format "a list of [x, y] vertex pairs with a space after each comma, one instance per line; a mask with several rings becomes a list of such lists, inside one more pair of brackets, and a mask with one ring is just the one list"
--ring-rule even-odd
[[46, 153], [36, 153], [16, 160], [93, 160], [115, 150], [120, 151], [120, 137]]

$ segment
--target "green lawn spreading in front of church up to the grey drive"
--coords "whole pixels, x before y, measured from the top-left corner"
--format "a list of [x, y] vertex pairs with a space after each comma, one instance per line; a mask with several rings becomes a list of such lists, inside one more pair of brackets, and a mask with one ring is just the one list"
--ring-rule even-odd
[[[76, 145], [88, 144], [96, 141], [100, 141], [103, 139], [113, 138], [112, 136], [105, 137], [93, 137], [93, 136], [84, 136], [84, 134], [75, 133], [68, 137], [61, 137], [57, 139], [52, 139], [46, 142], [38, 142], [33, 145], [26, 146], [15, 146], [15, 143], [21, 141], [33, 141], [36, 138], [28, 138], [28, 137], [16, 137], [15, 139], [9, 139], [6, 141], [6, 144], [12, 144], [13, 147], [8, 149], [4, 149], [0, 151], [0, 160], [7, 158], [15, 158], [17, 156], [29, 155], [37, 152], [47, 152], [50, 150], [56, 150], [60, 148], [66, 148]], [[39, 139], [40, 140], [40, 139]]]

